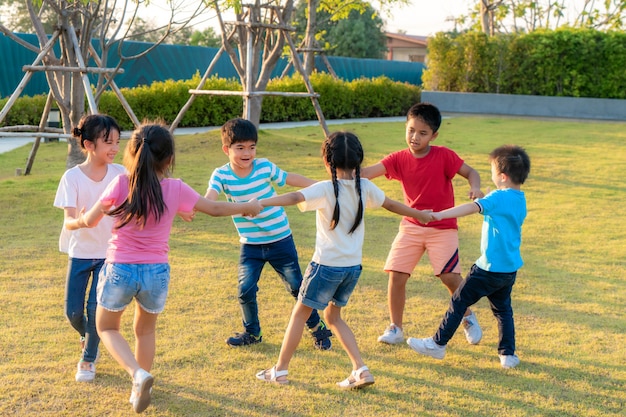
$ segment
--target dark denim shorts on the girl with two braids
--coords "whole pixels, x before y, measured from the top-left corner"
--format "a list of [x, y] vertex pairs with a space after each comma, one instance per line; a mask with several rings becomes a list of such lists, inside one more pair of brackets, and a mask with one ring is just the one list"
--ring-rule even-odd
[[324, 310], [330, 302], [345, 307], [361, 270], [361, 265], [326, 266], [311, 262], [304, 273], [298, 300], [316, 310]]

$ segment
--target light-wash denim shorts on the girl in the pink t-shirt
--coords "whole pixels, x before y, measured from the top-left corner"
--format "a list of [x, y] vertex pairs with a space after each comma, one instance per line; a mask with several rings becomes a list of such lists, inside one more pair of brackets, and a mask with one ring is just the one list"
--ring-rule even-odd
[[148, 313], [165, 308], [170, 284], [170, 265], [106, 263], [98, 279], [98, 305], [122, 311], [133, 300]]

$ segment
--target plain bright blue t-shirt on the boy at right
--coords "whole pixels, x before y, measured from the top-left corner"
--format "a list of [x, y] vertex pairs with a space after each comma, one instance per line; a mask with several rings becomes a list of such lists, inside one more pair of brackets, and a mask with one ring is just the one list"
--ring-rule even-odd
[[484, 216], [476, 266], [491, 272], [515, 272], [524, 264], [520, 253], [526, 197], [511, 188], [494, 190], [476, 200]]

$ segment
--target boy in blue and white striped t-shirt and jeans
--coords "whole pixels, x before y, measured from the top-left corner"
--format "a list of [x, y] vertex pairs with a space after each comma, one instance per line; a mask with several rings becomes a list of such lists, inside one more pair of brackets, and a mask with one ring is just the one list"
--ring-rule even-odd
[[[223, 192], [228, 201], [249, 201], [276, 195], [272, 186], [285, 184], [306, 187], [315, 181], [287, 173], [265, 158], [256, 157], [258, 134], [254, 124], [245, 119], [232, 119], [222, 126], [222, 150], [229, 162], [213, 171], [205, 195], [217, 200]], [[289, 221], [282, 207], [264, 209], [250, 219], [233, 216], [239, 233], [241, 252], [238, 267], [237, 296], [243, 316], [244, 331], [226, 340], [232, 347], [252, 345], [262, 340], [257, 304], [258, 283], [266, 263], [278, 273], [285, 288], [296, 298], [302, 283], [298, 252], [291, 235]], [[331, 348], [332, 335], [317, 310], [311, 311], [307, 327], [318, 349]]]

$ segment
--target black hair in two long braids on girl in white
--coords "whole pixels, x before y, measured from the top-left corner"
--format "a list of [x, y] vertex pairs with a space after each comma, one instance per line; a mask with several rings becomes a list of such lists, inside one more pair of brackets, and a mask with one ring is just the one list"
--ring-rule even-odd
[[359, 197], [359, 208], [354, 224], [349, 233], [359, 227], [363, 220], [363, 198], [361, 197], [361, 163], [363, 162], [363, 147], [359, 138], [350, 132], [331, 133], [322, 144], [322, 158], [330, 167], [333, 189], [335, 190], [335, 210], [330, 223], [330, 230], [339, 223], [339, 182], [337, 168], [344, 171], [354, 171], [356, 192]]

